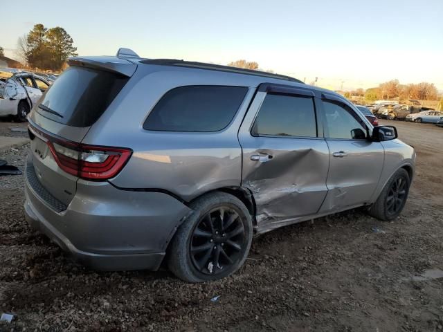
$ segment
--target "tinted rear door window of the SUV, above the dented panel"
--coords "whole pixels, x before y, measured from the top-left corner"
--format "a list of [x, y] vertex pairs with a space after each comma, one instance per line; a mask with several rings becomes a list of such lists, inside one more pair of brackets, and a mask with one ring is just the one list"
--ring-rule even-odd
[[268, 94], [253, 125], [254, 135], [316, 137], [311, 97]]

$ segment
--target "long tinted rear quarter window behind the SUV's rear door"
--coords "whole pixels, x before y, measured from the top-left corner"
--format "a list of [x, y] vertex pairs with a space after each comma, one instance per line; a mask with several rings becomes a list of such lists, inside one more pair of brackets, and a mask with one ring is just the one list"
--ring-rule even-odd
[[163, 95], [143, 128], [155, 131], [219, 131], [242, 104], [244, 86], [181, 86]]

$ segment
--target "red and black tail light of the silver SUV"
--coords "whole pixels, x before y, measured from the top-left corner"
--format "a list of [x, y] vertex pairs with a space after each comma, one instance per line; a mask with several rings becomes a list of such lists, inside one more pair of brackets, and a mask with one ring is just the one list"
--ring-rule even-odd
[[87, 180], [107, 180], [122, 169], [132, 154], [131, 149], [85, 145], [55, 138], [47, 133], [35, 131], [46, 138], [57, 165], [64, 172]]

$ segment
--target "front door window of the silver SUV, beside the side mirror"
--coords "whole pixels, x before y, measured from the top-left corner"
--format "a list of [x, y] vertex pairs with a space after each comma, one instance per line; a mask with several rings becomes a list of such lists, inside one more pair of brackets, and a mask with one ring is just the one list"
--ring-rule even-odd
[[346, 104], [335, 101], [323, 101], [323, 109], [325, 111], [329, 138], [365, 138], [366, 127], [363, 120]]

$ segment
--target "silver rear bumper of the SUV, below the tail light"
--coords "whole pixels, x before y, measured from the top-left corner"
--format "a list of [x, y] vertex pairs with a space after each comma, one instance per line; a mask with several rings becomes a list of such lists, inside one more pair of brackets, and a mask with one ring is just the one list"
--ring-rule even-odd
[[30, 185], [30, 173], [24, 205], [30, 226], [98, 270], [157, 270], [175, 230], [191, 211], [168, 194], [79, 180], [66, 210], [56, 212]]

